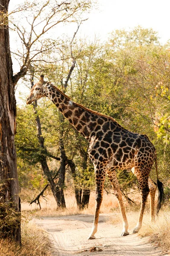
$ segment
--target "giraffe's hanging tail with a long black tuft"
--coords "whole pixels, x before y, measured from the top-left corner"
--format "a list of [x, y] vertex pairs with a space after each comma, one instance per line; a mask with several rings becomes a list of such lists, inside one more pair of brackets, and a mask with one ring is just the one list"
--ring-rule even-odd
[[157, 203], [157, 214], [159, 210], [161, 209], [161, 206], [164, 202], [164, 185], [163, 183], [158, 179], [158, 166], [157, 166], [157, 155], [155, 151], [155, 167], [156, 167], [156, 176], [157, 176], [157, 186], [158, 186], [158, 203]]

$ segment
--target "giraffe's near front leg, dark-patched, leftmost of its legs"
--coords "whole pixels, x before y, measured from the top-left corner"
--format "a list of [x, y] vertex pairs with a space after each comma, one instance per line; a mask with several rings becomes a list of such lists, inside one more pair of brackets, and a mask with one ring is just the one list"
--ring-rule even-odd
[[105, 180], [106, 174], [102, 173], [102, 171], [98, 168], [95, 168], [95, 182], [96, 182], [96, 206], [95, 206], [95, 218], [92, 226], [92, 231], [88, 237], [88, 239], [95, 239], [95, 233], [98, 229], [98, 217], [101, 207], [101, 202], [103, 199], [103, 188], [104, 188], [104, 180]]

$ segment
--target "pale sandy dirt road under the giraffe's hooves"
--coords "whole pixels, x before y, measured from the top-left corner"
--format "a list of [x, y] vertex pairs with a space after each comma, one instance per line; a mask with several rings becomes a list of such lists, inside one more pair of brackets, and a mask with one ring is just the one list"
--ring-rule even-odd
[[[107, 215], [99, 217], [95, 240], [87, 240], [93, 215], [72, 215], [40, 218], [33, 221], [49, 233], [54, 256], [161, 256], [167, 255], [154, 248], [137, 234], [120, 237], [121, 224], [109, 224]], [[130, 230], [132, 233], [133, 230]], [[96, 251], [90, 251], [95, 247]], [[98, 251], [99, 250], [99, 251]]]

